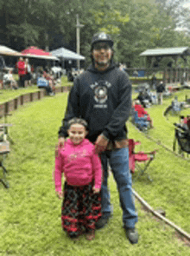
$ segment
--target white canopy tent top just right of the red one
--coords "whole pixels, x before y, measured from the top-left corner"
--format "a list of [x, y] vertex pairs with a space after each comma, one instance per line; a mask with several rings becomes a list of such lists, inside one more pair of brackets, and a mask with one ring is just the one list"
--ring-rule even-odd
[[59, 48], [59, 49], [54, 49], [51, 51], [51, 54], [56, 57], [60, 57], [66, 60], [85, 60], [85, 56], [81, 56], [72, 50], [66, 49], [66, 48]]

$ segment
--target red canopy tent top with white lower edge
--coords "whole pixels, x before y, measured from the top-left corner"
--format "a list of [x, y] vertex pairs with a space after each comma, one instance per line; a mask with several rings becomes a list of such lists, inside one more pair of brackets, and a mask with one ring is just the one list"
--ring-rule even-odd
[[22, 50], [22, 56], [48, 59], [48, 60], [56, 60], [56, 61], [59, 60], [57, 57], [52, 56], [52, 54], [50, 52], [45, 51], [43, 49], [39, 49], [35, 46], [30, 46], [27, 49], [23, 49]]

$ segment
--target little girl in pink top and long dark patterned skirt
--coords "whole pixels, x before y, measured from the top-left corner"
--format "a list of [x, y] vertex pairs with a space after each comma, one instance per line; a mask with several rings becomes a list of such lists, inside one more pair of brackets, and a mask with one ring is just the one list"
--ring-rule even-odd
[[[95, 237], [95, 222], [101, 217], [101, 162], [93, 144], [85, 139], [87, 123], [80, 118], [68, 122], [69, 138], [55, 156], [55, 191], [63, 198], [62, 228], [70, 238], [78, 240], [84, 230], [86, 239]], [[61, 174], [64, 173], [64, 191]]]

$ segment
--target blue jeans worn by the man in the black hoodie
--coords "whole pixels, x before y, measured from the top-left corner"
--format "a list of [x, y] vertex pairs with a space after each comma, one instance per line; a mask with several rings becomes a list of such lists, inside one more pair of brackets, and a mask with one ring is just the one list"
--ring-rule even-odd
[[129, 169], [128, 148], [105, 151], [101, 154], [101, 162], [104, 168], [104, 181], [101, 187], [102, 213], [104, 218], [111, 215], [110, 191], [108, 190], [107, 183], [109, 163], [114, 179], [117, 182], [120, 206], [123, 209], [123, 225], [131, 228], [135, 227], [137, 222], [137, 213], [131, 190], [132, 179]]

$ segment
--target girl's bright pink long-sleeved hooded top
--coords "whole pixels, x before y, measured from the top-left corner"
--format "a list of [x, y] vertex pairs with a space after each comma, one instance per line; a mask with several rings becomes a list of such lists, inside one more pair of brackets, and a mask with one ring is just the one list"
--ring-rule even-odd
[[68, 139], [64, 148], [55, 157], [54, 182], [55, 190], [61, 191], [61, 174], [72, 186], [84, 186], [94, 180], [96, 188], [101, 188], [102, 167], [94, 145], [85, 139], [79, 145]]

